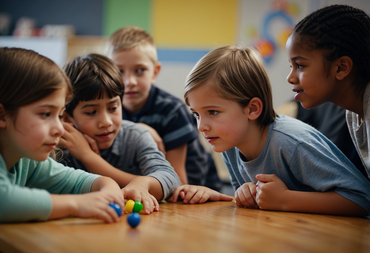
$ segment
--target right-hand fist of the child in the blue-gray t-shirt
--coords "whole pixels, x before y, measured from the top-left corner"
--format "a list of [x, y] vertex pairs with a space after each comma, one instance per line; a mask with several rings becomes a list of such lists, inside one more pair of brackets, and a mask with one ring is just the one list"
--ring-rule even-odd
[[285, 193], [289, 191], [284, 182], [275, 174], [258, 174], [256, 202], [260, 209], [282, 211]]

